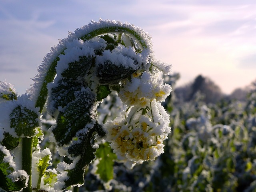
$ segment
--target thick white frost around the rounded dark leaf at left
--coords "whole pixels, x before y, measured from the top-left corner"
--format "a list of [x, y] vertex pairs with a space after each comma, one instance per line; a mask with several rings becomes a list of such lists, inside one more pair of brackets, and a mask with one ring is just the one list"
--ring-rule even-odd
[[[38, 112], [39, 109], [34, 107], [34, 101], [30, 100], [30, 95], [28, 94], [22, 94], [21, 96], [18, 96], [17, 100], [10, 100], [8, 102], [0, 103], [0, 111], [4, 112], [0, 115], [0, 128], [3, 128], [4, 132], [8, 132], [13, 137], [18, 136], [14, 128], [10, 127], [10, 114], [18, 106], [20, 106], [22, 109], [26, 108], [38, 114], [38, 118], [35, 120], [38, 121], [38, 123], [40, 122], [40, 114]], [[23, 137], [23, 135], [21, 137]]]

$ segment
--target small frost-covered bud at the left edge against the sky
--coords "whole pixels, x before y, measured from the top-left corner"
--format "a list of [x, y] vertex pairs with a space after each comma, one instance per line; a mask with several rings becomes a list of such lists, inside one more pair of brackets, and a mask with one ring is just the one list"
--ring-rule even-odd
[[9, 100], [16, 100], [17, 94], [12, 84], [0, 81], [0, 103]]

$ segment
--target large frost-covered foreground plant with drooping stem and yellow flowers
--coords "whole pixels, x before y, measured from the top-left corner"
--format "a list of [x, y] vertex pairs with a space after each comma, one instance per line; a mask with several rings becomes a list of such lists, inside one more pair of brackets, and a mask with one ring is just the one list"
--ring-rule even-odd
[[[100, 20], [70, 33], [46, 55], [26, 94], [17, 96], [12, 85], [0, 82], [0, 188], [81, 186], [95, 154], [98, 169], [100, 160], [111, 156], [102, 141], [126, 164], [154, 160], [164, 152], [163, 140], [171, 130], [160, 104], [171, 92], [162, 78], [170, 72], [171, 65], [155, 60], [150, 36], [131, 24]], [[124, 110], [102, 124], [97, 108], [111, 92]], [[56, 120], [48, 130], [50, 141], [70, 159], [56, 168], [49, 167], [51, 151], [40, 149], [44, 106]], [[97, 152], [94, 136], [100, 142]]]

